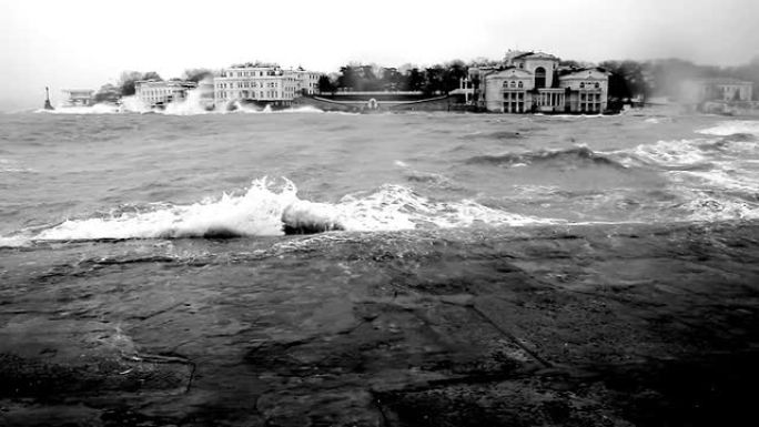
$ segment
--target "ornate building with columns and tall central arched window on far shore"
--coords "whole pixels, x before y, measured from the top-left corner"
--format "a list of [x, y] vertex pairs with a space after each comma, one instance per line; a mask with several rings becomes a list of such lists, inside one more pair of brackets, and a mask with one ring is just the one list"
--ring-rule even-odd
[[508, 52], [500, 67], [470, 68], [462, 81], [467, 102], [500, 113], [600, 114], [608, 105], [609, 73], [563, 68], [543, 52]]

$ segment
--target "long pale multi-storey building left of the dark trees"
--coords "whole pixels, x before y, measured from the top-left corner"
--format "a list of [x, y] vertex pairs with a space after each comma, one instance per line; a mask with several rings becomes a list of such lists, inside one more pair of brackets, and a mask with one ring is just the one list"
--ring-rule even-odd
[[245, 64], [221, 71], [213, 79], [216, 106], [234, 102], [253, 102], [289, 106], [302, 94], [314, 94], [318, 90], [320, 73], [282, 69], [279, 65]]

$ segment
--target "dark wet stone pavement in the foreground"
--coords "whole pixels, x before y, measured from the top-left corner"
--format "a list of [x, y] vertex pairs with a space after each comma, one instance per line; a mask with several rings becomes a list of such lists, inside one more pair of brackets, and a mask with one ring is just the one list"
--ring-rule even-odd
[[757, 224], [0, 251], [0, 425], [759, 423]]

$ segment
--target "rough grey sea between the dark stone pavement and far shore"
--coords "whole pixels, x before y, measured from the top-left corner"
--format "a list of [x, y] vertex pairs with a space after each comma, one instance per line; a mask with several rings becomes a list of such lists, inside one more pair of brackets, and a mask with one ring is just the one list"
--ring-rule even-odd
[[208, 114], [194, 96], [135, 114], [130, 102], [0, 116], [1, 245], [759, 213], [757, 121]]

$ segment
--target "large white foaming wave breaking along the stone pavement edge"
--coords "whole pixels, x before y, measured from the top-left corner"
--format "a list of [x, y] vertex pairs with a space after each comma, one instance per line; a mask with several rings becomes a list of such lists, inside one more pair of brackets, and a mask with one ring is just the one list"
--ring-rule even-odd
[[256, 180], [244, 194], [224, 193], [216, 200], [189, 205], [120, 206], [109, 214], [67, 220], [36, 232], [2, 237], [0, 245], [31, 242], [242, 237], [310, 234], [328, 231], [401, 231], [465, 227], [476, 224], [527, 225], [556, 223], [490, 209], [474, 201], [436, 202], [401, 185], [348, 194], [337, 203], [297, 197], [286, 179]]

